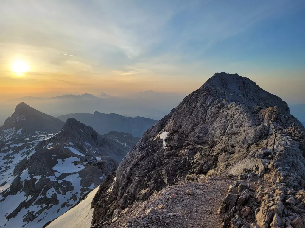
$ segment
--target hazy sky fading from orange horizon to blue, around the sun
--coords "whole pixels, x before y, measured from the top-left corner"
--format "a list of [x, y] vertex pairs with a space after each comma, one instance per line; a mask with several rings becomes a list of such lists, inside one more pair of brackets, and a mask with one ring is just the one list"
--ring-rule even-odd
[[303, 0], [1, 0], [0, 101], [188, 94], [227, 72], [304, 103], [304, 23]]

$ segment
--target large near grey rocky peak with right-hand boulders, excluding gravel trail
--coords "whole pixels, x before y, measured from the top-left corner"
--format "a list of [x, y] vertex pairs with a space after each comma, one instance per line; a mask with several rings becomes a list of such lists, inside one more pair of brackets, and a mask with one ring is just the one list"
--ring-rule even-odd
[[[222, 227], [303, 227], [302, 190], [292, 189], [304, 188], [304, 132], [281, 98], [238, 74], [216, 73], [146, 131], [106, 178], [92, 202], [92, 224], [114, 227], [116, 213], [155, 191], [228, 174], [233, 179], [219, 209]], [[143, 210], [148, 215], [152, 209]], [[137, 227], [127, 223], [119, 225]]]

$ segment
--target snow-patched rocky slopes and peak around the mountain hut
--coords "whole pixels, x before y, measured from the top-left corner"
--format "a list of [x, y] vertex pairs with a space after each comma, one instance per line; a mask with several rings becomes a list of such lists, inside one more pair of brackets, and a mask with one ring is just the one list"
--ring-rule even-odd
[[[58, 133], [33, 130], [0, 141], [0, 227], [43, 227], [100, 185], [127, 153], [72, 118]], [[90, 157], [98, 161], [88, 163]]]

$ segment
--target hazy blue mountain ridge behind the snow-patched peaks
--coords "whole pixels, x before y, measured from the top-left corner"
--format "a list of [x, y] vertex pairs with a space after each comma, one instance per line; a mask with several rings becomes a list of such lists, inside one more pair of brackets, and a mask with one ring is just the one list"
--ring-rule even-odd
[[132, 134], [134, 137], [141, 137], [157, 120], [145, 117], [126, 117], [118, 114], [100, 113], [70, 113], [59, 116], [58, 119], [66, 121], [69, 117], [77, 119], [81, 123], [93, 127], [99, 134], [106, 134], [109, 131], [118, 131]]

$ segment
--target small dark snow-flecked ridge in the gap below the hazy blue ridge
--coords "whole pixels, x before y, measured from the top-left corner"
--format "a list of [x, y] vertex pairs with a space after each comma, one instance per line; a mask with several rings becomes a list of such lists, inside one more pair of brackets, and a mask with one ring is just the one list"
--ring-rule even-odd
[[102, 135], [107, 138], [112, 143], [116, 144], [118, 147], [123, 150], [131, 150], [132, 147], [137, 145], [141, 138], [136, 138], [131, 134], [118, 132], [118, 131], [110, 131], [107, 134]]

